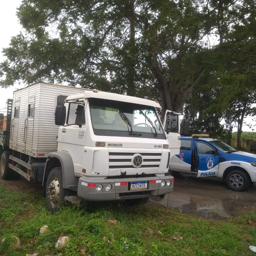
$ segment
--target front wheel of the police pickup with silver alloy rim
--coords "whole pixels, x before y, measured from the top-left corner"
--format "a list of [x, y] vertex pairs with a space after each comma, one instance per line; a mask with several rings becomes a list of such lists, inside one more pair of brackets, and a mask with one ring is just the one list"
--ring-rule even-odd
[[232, 170], [228, 172], [227, 185], [231, 190], [244, 191], [250, 184], [249, 177], [241, 170]]

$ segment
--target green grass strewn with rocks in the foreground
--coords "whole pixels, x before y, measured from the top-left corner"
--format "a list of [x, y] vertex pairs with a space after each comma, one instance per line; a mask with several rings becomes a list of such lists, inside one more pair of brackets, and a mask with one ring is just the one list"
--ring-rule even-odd
[[[26, 204], [24, 204], [26, 203]], [[108, 220], [116, 220], [108, 224]], [[248, 221], [250, 223], [248, 223]], [[50, 231], [39, 235], [40, 227]], [[42, 196], [10, 192], [0, 187], [0, 255], [255, 255], [256, 215], [248, 212], [238, 218], [205, 220], [195, 215], [162, 206], [144, 205], [126, 208], [120, 205], [89, 208], [63, 207], [56, 214], [45, 208]], [[161, 233], [159, 233], [160, 231]], [[56, 249], [60, 234], [70, 238], [67, 247]], [[112, 234], [114, 234], [114, 241]], [[9, 247], [12, 236], [21, 246]], [[102, 238], [106, 236], [104, 241]], [[172, 237], [183, 237], [173, 241]], [[248, 240], [252, 239], [252, 240]]]

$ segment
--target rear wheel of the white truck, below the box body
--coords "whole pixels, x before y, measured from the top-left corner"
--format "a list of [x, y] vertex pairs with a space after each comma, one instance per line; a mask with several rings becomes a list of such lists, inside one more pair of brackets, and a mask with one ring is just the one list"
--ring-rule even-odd
[[18, 172], [13, 171], [11, 168], [9, 168], [9, 164], [11, 163], [10, 159], [10, 152], [4, 151], [3, 155], [1, 157], [1, 163], [0, 163], [0, 172], [1, 177], [3, 180], [17, 180], [20, 178], [20, 174]]

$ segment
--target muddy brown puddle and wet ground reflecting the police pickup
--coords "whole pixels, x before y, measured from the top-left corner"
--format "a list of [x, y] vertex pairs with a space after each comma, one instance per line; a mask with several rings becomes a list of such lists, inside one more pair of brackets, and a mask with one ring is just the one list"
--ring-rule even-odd
[[256, 188], [250, 185], [246, 191], [236, 192], [217, 178], [197, 179], [192, 175], [179, 175], [174, 178], [172, 193], [164, 198], [153, 197], [149, 204], [218, 219], [256, 210]]

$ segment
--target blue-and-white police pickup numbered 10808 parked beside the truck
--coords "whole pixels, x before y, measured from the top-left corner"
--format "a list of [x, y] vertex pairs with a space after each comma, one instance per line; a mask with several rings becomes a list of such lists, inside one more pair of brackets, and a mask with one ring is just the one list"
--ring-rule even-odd
[[192, 136], [180, 138], [180, 154], [171, 157], [171, 172], [218, 177], [235, 191], [256, 183], [255, 154], [237, 151], [220, 140], [207, 138], [208, 134]]

